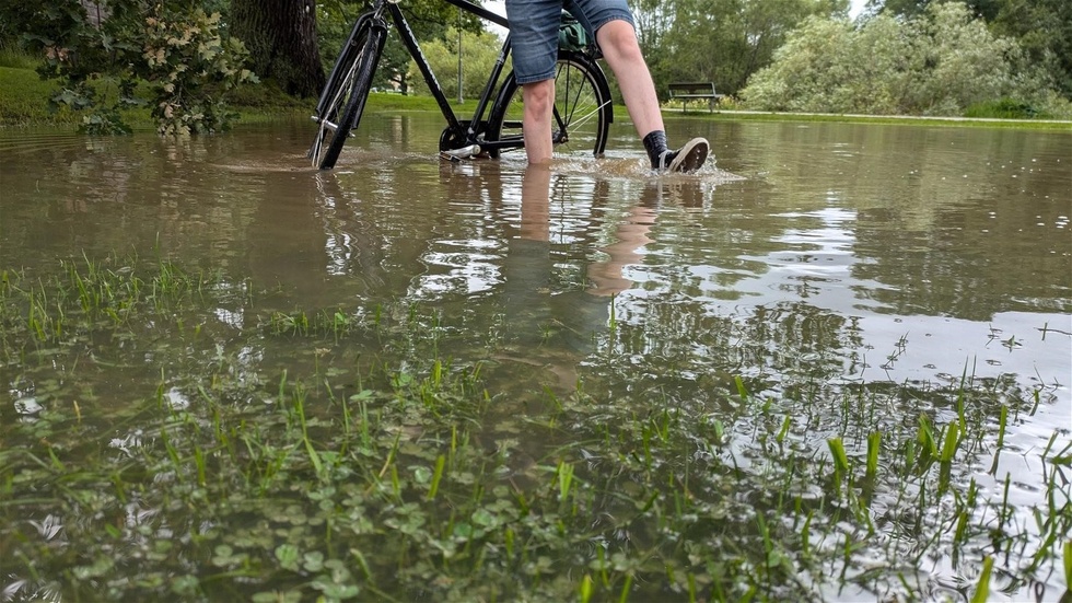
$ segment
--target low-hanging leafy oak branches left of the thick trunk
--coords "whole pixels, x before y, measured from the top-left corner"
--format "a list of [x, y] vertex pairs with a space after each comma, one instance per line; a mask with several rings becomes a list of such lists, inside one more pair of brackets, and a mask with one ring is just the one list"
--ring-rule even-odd
[[[248, 54], [225, 35], [220, 13], [174, 0], [115, 0], [103, 16], [90, 20], [74, 0], [53, 3], [34, 15], [44, 23], [42, 31], [51, 34], [23, 37], [43, 48], [42, 77], [63, 82], [53, 102], [84, 112], [83, 131], [129, 131], [120, 109], [144, 104], [136, 94], [139, 82], [149, 83], [161, 134], [215, 131], [230, 125], [236, 114], [226, 108], [228, 91], [256, 78], [243, 68]], [[116, 94], [97, 94], [102, 81], [115, 81]]]

